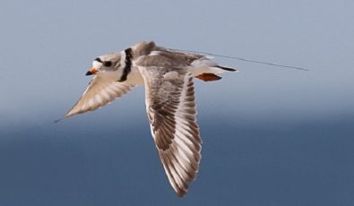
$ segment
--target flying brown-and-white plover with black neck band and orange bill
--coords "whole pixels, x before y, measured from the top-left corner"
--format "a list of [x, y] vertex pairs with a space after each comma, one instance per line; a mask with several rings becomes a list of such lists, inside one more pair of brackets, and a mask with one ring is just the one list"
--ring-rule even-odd
[[194, 78], [219, 81], [219, 73], [235, 71], [216, 64], [212, 56], [143, 41], [94, 59], [86, 73], [93, 76], [91, 82], [62, 119], [104, 107], [134, 87], [144, 86], [151, 135], [168, 182], [181, 197], [194, 181], [202, 157]]

